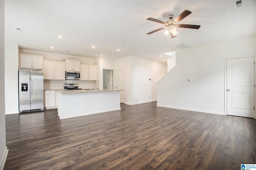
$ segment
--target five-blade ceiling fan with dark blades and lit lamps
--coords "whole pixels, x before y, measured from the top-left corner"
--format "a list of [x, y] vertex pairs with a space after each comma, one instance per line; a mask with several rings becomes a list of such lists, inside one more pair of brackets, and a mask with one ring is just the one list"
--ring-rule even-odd
[[164, 31], [165, 35], [167, 36], [168, 33], [170, 32], [171, 37], [175, 38], [176, 35], [178, 34], [178, 31], [176, 31], [176, 27], [180, 27], [180, 28], [191, 28], [191, 29], [199, 29], [200, 25], [189, 25], [189, 24], [178, 24], [179, 21], [183, 20], [186, 16], [188, 16], [189, 14], [191, 14], [192, 12], [188, 11], [188, 10], [184, 10], [177, 18], [174, 18], [173, 14], [168, 15], [167, 17], [169, 18], [169, 20], [166, 21], [160, 21], [154, 18], [148, 18], [147, 20], [150, 21], [154, 21], [154, 22], [158, 22], [158, 23], [162, 23], [164, 24], [165, 27], [156, 29], [154, 31], [151, 31], [147, 34], [152, 34], [156, 31], [160, 31], [162, 29], [166, 29], [168, 28], [168, 30]]

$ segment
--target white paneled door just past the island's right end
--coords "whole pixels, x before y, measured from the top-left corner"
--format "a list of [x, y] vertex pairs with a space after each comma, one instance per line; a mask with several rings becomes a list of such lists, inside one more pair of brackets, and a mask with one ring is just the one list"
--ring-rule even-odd
[[[116, 89], [125, 90], [124, 68], [116, 70]], [[125, 91], [120, 91], [120, 103], [125, 103]]]

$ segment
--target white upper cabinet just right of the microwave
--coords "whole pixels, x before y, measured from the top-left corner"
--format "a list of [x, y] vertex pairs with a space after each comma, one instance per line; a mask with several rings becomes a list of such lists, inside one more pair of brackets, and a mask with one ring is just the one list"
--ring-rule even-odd
[[80, 64], [80, 80], [97, 80], [97, 66]]

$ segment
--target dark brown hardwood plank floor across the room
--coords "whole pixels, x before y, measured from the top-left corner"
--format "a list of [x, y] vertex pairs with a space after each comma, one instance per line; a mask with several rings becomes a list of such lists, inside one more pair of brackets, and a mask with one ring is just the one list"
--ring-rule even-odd
[[[256, 164], [256, 119], [156, 107], [6, 115], [7, 169], [224, 169]], [[74, 108], [75, 109], [75, 108]]]

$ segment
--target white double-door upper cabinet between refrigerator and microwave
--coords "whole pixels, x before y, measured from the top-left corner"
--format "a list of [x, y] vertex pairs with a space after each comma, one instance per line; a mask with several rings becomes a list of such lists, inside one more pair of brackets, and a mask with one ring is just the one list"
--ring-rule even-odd
[[44, 79], [65, 80], [65, 62], [44, 60]]

